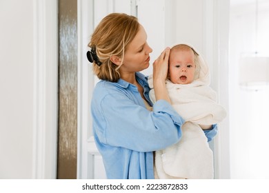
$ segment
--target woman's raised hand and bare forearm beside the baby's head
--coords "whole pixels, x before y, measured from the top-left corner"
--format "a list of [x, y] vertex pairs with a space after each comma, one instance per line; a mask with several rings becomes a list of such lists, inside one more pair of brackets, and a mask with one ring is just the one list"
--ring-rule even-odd
[[168, 59], [170, 48], [166, 48], [153, 63], [153, 86], [155, 89], [156, 101], [163, 99], [171, 103], [166, 89], [166, 77], [168, 73]]

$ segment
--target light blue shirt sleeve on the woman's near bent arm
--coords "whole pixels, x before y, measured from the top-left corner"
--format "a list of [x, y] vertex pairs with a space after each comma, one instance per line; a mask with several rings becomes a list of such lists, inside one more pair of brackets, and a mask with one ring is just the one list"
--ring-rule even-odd
[[157, 101], [150, 112], [124, 94], [107, 94], [100, 110], [103, 120], [96, 117], [95, 127], [103, 144], [152, 152], [181, 138], [184, 120], [167, 101]]

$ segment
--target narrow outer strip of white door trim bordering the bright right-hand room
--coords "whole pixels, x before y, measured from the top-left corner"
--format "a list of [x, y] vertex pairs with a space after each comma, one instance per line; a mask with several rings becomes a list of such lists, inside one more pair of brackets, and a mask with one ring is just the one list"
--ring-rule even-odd
[[[229, 15], [230, 2], [216, 1], [215, 17], [218, 21], [215, 25], [219, 29], [219, 65], [215, 79], [219, 80], [219, 103], [226, 108], [227, 117], [224, 119], [219, 128], [218, 143], [218, 164], [217, 179], [230, 179], [230, 124], [229, 124]], [[216, 48], [217, 49], [217, 48]]]

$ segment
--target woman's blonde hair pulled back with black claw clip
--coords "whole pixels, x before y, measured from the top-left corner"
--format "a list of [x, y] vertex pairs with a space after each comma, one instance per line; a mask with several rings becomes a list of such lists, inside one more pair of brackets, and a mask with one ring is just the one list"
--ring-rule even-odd
[[104, 17], [95, 28], [88, 46], [95, 47], [101, 65], [93, 63], [94, 74], [99, 79], [117, 82], [120, 79], [119, 68], [110, 61], [115, 55], [123, 61], [128, 44], [135, 38], [139, 30], [137, 17], [123, 13], [112, 13]]

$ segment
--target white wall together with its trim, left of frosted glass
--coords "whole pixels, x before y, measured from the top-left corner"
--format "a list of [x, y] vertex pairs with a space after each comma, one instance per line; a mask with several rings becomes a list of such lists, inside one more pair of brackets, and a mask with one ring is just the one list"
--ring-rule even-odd
[[57, 1], [0, 1], [0, 179], [54, 178]]

